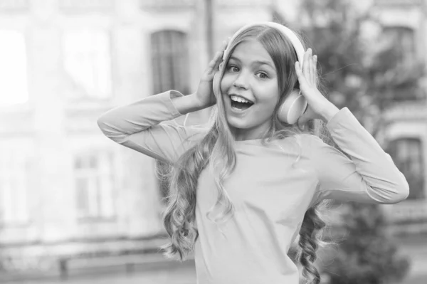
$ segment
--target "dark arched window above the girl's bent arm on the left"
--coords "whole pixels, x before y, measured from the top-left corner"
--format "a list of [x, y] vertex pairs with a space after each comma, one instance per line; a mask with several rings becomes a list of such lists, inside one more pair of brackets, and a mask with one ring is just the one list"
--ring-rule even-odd
[[153, 92], [189, 93], [189, 56], [185, 33], [159, 31], [151, 36]]

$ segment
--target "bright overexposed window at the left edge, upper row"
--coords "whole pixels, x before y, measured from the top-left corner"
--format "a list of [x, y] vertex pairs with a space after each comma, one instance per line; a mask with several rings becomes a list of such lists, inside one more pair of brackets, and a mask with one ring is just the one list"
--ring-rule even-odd
[[0, 31], [0, 107], [28, 100], [26, 46], [22, 33]]

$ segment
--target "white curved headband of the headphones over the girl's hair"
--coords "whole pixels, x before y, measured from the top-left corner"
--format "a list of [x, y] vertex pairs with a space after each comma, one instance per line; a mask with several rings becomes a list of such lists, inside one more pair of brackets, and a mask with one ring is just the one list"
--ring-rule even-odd
[[260, 25], [276, 28], [279, 31], [281, 31], [283, 34], [285, 34], [285, 36], [289, 39], [290, 43], [292, 43], [292, 46], [294, 47], [295, 52], [297, 53], [300, 66], [302, 66], [302, 61], [304, 59], [305, 51], [300, 39], [292, 30], [290, 30], [290, 28], [287, 28], [286, 26], [280, 25], [280, 23], [275, 23], [272, 21], [258, 21], [258, 22], [248, 23], [246, 26], [239, 28], [238, 31], [236, 31], [236, 33], [234, 33], [233, 36], [230, 38], [230, 41], [228, 41], [226, 51], [223, 54], [223, 59], [225, 59], [228, 56], [230, 45], [239, 34], [241, 34], [243, 31], [246, 31], [248, 28], [251, 28], [253, 26], [260, 26]]

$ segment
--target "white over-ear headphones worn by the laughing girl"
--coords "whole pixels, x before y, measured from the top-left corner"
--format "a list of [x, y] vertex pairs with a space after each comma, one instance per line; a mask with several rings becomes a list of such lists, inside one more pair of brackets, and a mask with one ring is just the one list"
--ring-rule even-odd
[[[283, 25], [280, 25], [280, 23], [274, 23], [270, 21], [260, 21], [255, 23], [249, 23], [246, 26], [243, 26], [242, 28], [240, 28], [238, 31], [236, 31], [236, 33], [234, 33], [233, 36], [230, 38], [230, 41], [228, 41], [226, 50], [224, 51], [224, 54], [223, 54], [223, 61], [225, 60], [225, 58], [227, 58], [228, 53], [230, 53], [231, 43], [236, 39], [236, 37], [239, 34], [241, 34], [243, 31], [246, 31], [248, 28], [251, 28], [253, 26], [259, 26], [259, 25], [270, 26], [271, 28], [275, 28], [278, 31], [282, 32], [288, 38], [290, 43], [292, 43], [292, 46], [295, 48], [298, 61], [300, 62], [300, 66], [302, 66], [302, 60], [304, 59], [305, 51], [300, 39], [289, 28]], [[214, 94], [216, 97], [218, 97], [218, 95], [220, 95], [221, 93], [220, 80], [222, 75], [223, 75], [223, 62], [220, 63], [219, 70], [214, 75], [212, 87], [214, 89]], [[290, 125], [293, 125], [298, 121], [298, 118], [300, 118], [300, 116], [305, 112], [305, 110], [307, 109], [307, 106], [308, 106], [307, 100], [305, 100], [301, 91], [299, 89], [294, 88], [292, 92], [288, 95], [288, 97], [285, 98], [285, 101], [282, 103], [282, 105], [280, 105], [279, 107], [279, 110], [278, 110], [279, 120], [282, 122], [286, 122]]]

